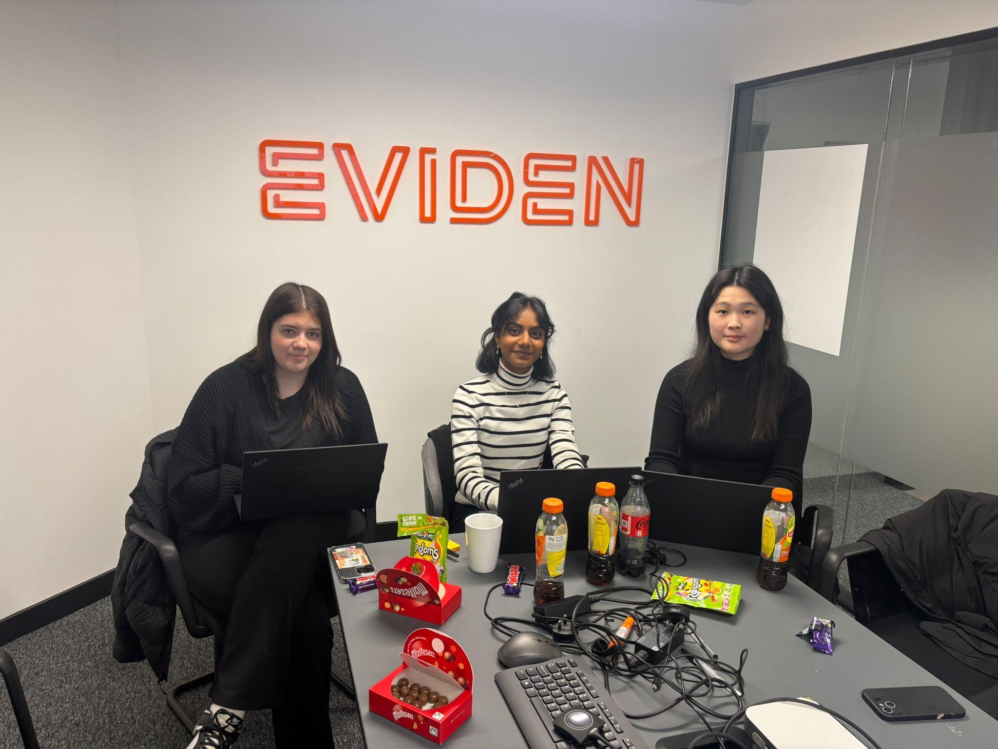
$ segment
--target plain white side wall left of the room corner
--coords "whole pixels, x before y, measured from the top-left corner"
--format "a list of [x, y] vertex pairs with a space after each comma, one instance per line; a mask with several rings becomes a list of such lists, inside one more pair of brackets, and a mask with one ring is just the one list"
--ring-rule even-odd
[[113, 567], [153, 426], [111, 2], [2, 4], [0, 617]]

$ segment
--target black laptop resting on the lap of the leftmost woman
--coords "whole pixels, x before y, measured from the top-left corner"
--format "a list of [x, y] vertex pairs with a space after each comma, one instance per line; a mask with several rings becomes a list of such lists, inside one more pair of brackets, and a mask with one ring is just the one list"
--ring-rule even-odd
[[252, 450], [243, 453], [243, 520], [316, 515], [373, 507], [385, 442]]

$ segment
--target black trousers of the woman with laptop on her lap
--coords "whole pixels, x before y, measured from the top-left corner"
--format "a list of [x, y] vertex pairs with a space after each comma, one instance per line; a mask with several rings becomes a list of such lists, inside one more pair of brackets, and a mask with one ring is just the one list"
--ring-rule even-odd
[[227, 620], [211, 697], [272, 711], [274, 744], [333, 746], [334, 613], [325, 550], [363, 536], [363, 515], [283, 517], [178, 538], [192, 594]]

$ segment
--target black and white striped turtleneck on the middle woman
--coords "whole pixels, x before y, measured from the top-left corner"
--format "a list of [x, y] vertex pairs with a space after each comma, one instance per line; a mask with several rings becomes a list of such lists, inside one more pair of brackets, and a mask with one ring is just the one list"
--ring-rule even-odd
[[497, 509], [499, 472], [539, 468], [550, 445], [556, 468], [581, 468], [572, 406], [557, 379], [506, 369], [479, 375], [454, 393], [450, 417], [455, 500]]

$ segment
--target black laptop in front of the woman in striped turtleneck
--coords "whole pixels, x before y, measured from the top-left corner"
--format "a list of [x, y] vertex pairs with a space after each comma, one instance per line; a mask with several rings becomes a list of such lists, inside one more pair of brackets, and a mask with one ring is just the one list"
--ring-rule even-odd
[[637, 466], [502, 471], [499, 474], [499, 517], [502, 518], [499, 553], [534, 552], [534, 530], [541, 515], [541, 503], [549, 496], [558, 497], [565, 505], [569, 550], [585, 549], [589, 544], [589, 502], [596, 493], [596, 484], [599, 481], [615, 484], [620, 501], [631, 485], [631, 476], [640, 472]]

